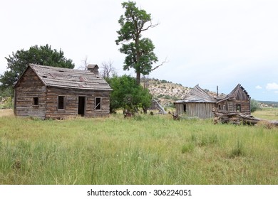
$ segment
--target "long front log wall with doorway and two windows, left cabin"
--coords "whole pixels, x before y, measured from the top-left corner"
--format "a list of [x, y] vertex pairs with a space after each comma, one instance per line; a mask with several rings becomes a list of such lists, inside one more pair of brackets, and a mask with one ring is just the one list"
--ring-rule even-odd
[[[78, 115], [78, 97], [85, 97], [85, 117], [108, 116], [110, 109], [110, 91], [71, 90], [48, 87], [46, 95], [46, 118], [65, 119]], [[58, 96], [65, 97], [65, 109], [58, 109]], [[101, 97], [101, 109], [95, 109], [96, 97]]]

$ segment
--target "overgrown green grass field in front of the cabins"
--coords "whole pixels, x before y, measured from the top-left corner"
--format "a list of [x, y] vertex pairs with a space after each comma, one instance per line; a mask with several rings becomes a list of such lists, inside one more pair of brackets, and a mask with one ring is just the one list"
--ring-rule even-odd
[[0, 184], [278, 184], [278, 128], [171, 115], [6, 115]]

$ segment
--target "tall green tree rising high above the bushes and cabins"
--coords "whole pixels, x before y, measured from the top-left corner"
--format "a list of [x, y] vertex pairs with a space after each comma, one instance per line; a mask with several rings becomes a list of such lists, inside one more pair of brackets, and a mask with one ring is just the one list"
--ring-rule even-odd
[[[136, 7], [133, 1], [123, 2], [125, 14], [120, 16], [120, 30], [117, 31], [117, 45], [122, 45], [120, 53], [126, 55], [123, 69], [133, 68], [136, 72], [136, 82], [140, 84], [141, 74], [148, 75], [160, 65], [153, 67], [158, 62], [158, 58], [153, 52], [155, 45], [150, 38], [142, 38], [142, 33], [149, 28], [158, 26], [153, 24], [150, 14], [143, 9]], [[162, 65], [162, 64], [161, 64]]]

